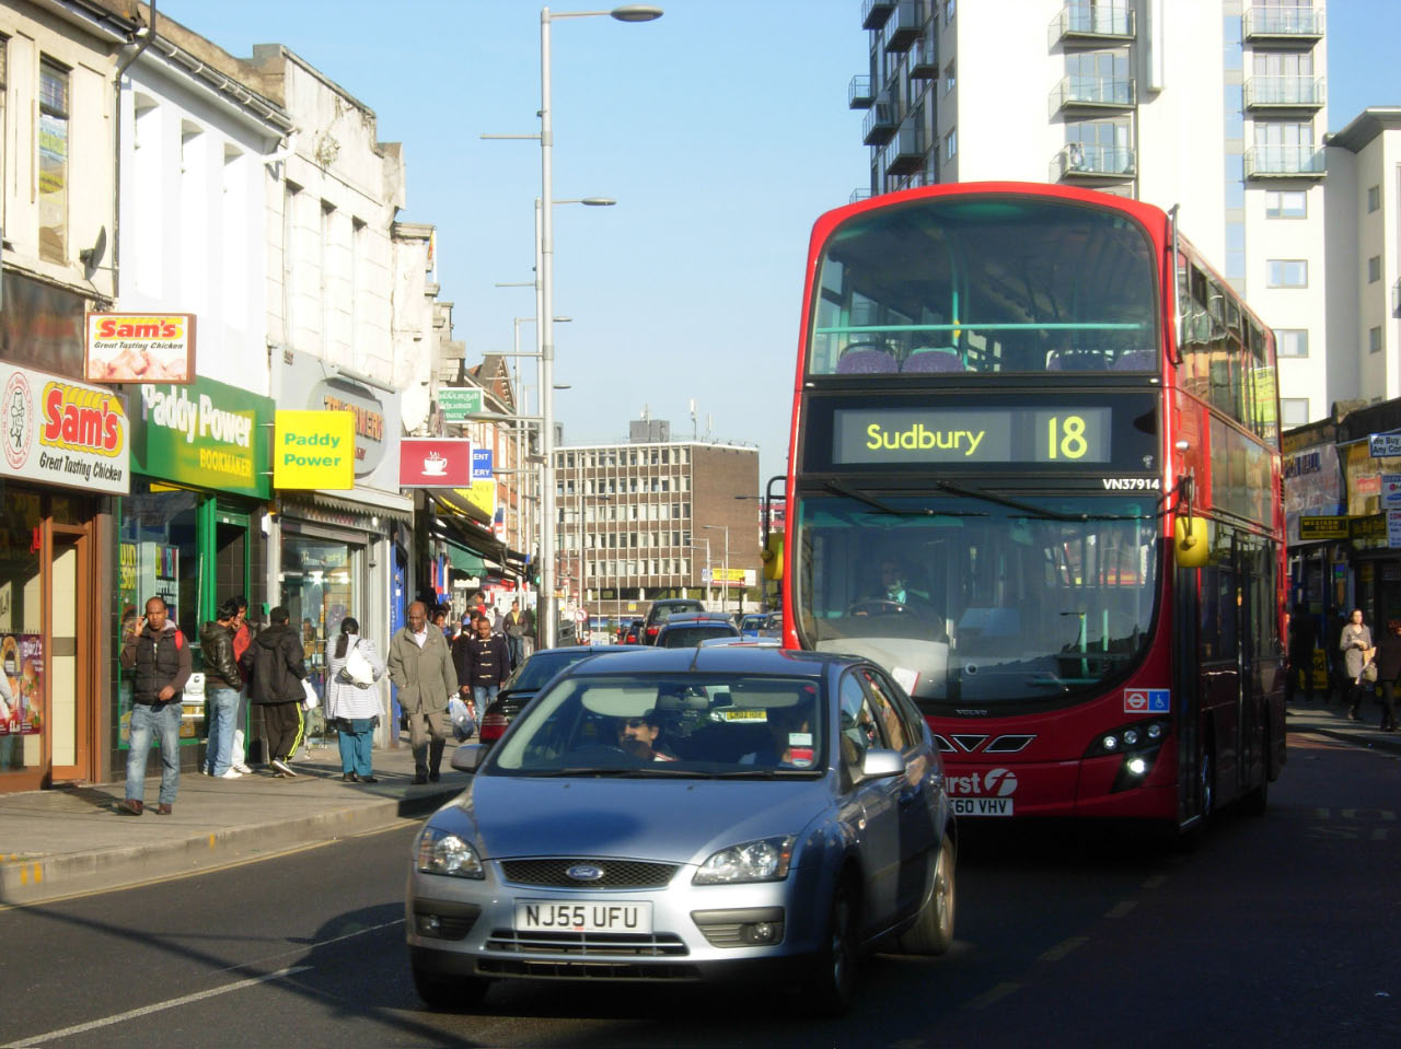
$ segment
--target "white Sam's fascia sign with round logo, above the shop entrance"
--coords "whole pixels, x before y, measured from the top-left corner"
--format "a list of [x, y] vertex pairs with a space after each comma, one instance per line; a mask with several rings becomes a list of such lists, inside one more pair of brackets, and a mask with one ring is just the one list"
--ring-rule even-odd
[[122, 395], [0, 361], [8, 476], [125, 496], [132, 427]]

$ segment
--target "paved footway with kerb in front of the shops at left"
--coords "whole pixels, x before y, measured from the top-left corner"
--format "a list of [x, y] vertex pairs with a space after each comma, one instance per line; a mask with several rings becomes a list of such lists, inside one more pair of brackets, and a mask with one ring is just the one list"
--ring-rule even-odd
[[0, 794], [0, 909], [181, 877], [422, 818], [455, 797], [467, 773], [443, 755], [443, 779], [413, 786], [403, 745], [375, 749], [378, 783], [345, 783], [335, 742], [303, 751], [294, 779], [254, 767], [235, 780], [181, 772], [174, 812], [120, 815], [125, 783]]

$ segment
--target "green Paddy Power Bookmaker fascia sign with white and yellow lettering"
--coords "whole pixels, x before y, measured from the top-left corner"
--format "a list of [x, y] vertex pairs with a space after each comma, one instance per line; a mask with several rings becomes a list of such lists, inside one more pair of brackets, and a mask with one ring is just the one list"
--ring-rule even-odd
[[268, 499], [272, 398], [207, 378], [143, 384], [132, 412], [132, 472], [195, 487]]

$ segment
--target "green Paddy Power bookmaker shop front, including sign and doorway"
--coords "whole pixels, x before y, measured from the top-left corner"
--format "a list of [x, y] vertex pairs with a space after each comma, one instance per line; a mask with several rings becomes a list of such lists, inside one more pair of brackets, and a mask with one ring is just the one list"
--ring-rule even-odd
[[[165, 601], [193, 654], [181, 765], [196, 767], [205, 737], [200, 627], [231, 597], [247, 598], [252, 620], [266, 608], [273, 402], [203, 377], [129, 389], [133, 478], [116, 529], [116, 643], [150, 598]], [[132, 692], [120, 668], [116, 681], [113, 760], [125, 763]]]

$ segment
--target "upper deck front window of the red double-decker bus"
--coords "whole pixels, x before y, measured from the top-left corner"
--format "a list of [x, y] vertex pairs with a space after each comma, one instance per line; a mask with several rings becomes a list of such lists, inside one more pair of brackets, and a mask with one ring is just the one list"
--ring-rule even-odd
[[933, 197], [848, 220], [818, 266], [808, 374], [1156, 371], [1156, 268], [1108, 209]]

